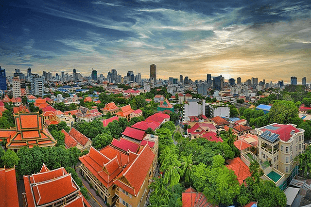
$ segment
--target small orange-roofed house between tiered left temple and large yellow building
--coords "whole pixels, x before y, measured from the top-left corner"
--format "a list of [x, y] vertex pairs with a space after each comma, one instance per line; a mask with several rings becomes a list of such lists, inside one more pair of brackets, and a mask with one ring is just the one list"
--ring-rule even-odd
[[77, 147], [81, 152], [89, 150], [91, 144], [93, 143], [85, 135], [79, 132], [75, 128], [71, 128], [69, 133], [62, 129], [63, 134], [65, 135], [65, 146], [66, 148]]

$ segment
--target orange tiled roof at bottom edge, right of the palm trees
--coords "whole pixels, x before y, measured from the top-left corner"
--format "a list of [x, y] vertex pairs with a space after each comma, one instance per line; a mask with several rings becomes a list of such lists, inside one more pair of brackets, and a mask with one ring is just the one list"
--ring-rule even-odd
[[192, 187], [182, 193], [181, 200], [182, 207], [218, 207], [210, 204], [202, 192], [197, 192]]

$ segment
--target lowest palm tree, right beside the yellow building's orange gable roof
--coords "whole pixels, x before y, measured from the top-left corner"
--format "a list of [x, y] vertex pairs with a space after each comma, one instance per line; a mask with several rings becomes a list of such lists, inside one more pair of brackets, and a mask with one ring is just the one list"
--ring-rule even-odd
[[165, 201], [164, 204], [168, 204], [172, 194], [167, 190], [162, 176], [153, 178], [153, 182], [148, 186], [148, 188], [153, 190], [150, 196], [155, 196], [155, 198], [163, 198]]

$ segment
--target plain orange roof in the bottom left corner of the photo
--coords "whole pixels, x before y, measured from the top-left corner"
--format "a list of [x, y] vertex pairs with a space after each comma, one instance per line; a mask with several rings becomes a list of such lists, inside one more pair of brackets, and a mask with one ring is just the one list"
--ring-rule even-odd
[[19, 207], [15, 168], [0, 168], [0, 207]]

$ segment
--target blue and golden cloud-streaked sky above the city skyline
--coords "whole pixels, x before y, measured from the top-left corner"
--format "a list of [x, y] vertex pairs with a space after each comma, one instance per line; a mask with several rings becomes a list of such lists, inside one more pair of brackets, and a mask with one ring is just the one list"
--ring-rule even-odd
[[7, 0], [0, 19], [7, 75], [156, 64], [161, 79], [311, 82], [311, 0]]

